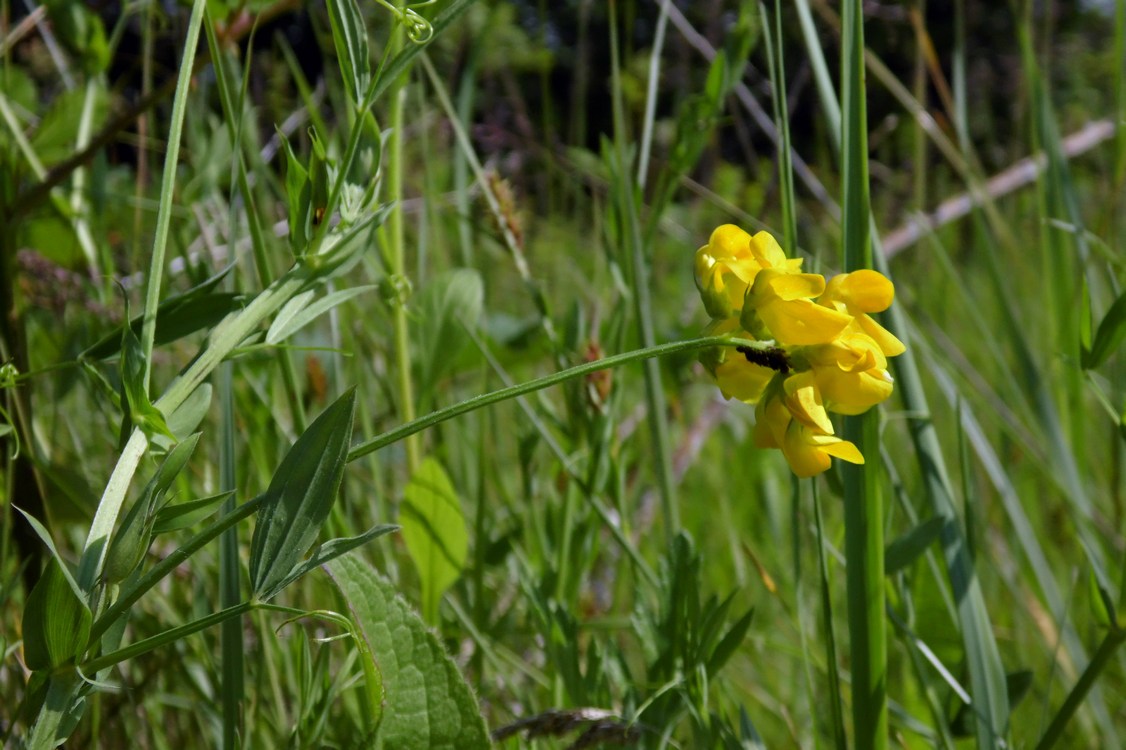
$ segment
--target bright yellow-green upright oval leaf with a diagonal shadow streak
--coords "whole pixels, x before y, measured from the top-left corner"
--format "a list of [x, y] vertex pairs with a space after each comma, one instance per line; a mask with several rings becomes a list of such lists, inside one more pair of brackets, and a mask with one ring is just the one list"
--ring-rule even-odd
[[465, 565], [468, 535], [454, 485], [434, 458], [423, 461], [406, 485], [399, 520], [406, 550], [419, 570], [422, 616], [436, 624], [441, 595]]

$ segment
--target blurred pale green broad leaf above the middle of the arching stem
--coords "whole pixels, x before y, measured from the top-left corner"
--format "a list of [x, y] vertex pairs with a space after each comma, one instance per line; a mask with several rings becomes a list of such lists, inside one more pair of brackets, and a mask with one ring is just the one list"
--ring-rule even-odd
[[420, 386], [425, 401], [468, 345], [465, 329], [475, 329], [484, 306], [484, 285], [475, 270], [441, 274], [418, 295], [415, 323]]

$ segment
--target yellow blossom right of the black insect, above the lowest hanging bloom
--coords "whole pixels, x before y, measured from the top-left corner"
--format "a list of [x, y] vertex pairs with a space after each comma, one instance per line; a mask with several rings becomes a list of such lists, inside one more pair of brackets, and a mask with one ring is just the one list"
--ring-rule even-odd
[[851, 329], [830, 343], [803, 350], [830, 411], [861, 414], [892, 395], [887, 358], [875, 339]]

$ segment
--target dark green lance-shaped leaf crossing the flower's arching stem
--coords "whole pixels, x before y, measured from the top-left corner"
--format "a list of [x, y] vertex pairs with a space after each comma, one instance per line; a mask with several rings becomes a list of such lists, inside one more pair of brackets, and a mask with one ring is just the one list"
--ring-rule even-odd
[[313, 546], [343, 479], [356, 391], [349, 390], [309, 426], [282, 459], [250, 543], [253, 595], [269, 599]]

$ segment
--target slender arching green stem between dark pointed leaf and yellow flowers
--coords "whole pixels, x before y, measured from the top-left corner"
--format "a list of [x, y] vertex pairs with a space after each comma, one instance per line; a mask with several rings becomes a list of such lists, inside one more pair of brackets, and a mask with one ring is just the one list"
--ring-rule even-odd
[[381, 448], [385, 448], [393, 443], [402, 440], [408, 435], [421, 432], [425, 429], [434, 427], [435, 425], [444, 422], [448, 419], [453, 419], [454, 417], [459, 417], [464, 413], [483, 409], [484, 407], [491, 407], [494, 403], [515, 399], [516, 396], [521, 396], [527, 393], [543, 391], [544, 389], [548, 389], [553, 385], [558, 385], [560, 383], [582, 377], [583, 375], [597, 373], [600, 369], [610, 369], [633, 361], [653, 359], [654, 357], [664, 357], [680, 351], [706, 349], [708, 347], [749, 347], [751, 349], [766, 349], [769, 348], [769, 346], [770, 345], [763, 343], [762, 341], [732, 339], [723, 336], [708, 336], [698, 339], [687, 339], [685, 341], [673, 341], [672, 343], [661, 343], [655, 347], [635, 349], [634, 351], [626, 351], [625, 354], [614, 355], [613, 357], [606, 357], [605, 359], [596, 359], [593, 361], [583, 363], [551, 375], [545, 375], [544, 377], [537, 377], [536, 380], [528, 381], [527, 383], [510, 385], [499, 391], [493, 391], [492, 393], [482, 393], [481, 395], [455, 403], [452, 407], [446, 407], [445, 409], [439, 409], [438, 411], [434, 411], [425, 417], [419, 417], [418, 419], [406, 422], [405, 425], [400, 425], [393, 430], [388, 430], [383, 435], [378, 435], [357, 444], [348, 453], [348, 462], [350, 463], [357, 458], [368, 455], [369, 453], [375, 453]]

